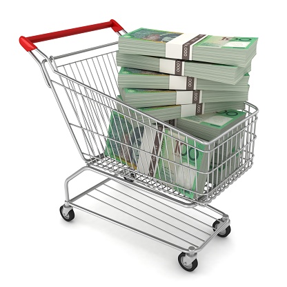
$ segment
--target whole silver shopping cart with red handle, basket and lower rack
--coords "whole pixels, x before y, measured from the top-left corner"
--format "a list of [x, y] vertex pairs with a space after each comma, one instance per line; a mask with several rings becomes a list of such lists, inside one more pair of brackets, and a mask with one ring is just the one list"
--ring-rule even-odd
[[[258, 110], [246, 102], [244, 119], [203, 141], [175, 128], [174, 121], [158, 121], [117, 98], [117, 42], [57, 57], [47, 57], [34, 45], [104, 28], [126, 33], [110, 20], [19, 39], [39, 64], [86, 164], [65, 181], [61, 216], [71, 221], [77, 208], [106, 219], [180, 250], [181, 267], [195, 270], [197, 253], [215, 236], [230, 233], [228, 215], [210, 202], [253, 166]], [[164, 155], [163, 141], [177, 152]], [[187, 152], [193, 166], [182, 160]], [[70, 199], [69, 182], [86, 170], [106, 179]]]

